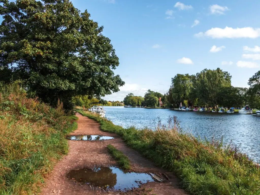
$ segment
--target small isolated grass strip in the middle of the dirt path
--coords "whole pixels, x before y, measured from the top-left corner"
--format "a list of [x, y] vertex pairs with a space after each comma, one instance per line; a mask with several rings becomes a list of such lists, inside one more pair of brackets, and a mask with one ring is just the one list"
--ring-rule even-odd
[[131, 163], [125, 154], [120, 152], [118, 149], [116, 149], [111, 144], [109, 144], [107, 146], [107, 148], [108, 148], [108, 151], [113, 155], [113, 157], [115, 158], [115, 160], [119, 166], [121, 166], [125, 171], [130, 171], [132, 169]]

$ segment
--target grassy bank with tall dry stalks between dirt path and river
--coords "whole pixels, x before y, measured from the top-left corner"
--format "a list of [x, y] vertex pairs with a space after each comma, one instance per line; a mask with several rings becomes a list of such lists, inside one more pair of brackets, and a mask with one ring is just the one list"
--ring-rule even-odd
[[167, 129], [152, 131], [124, 129], [97, 115], [79, 112], [98, 121], [103, 131], [122, 136], [129, 146], [158, 166], [176, 173], [182, 187], [191, 194], [260, 194], [259, 167], [246, 155], [220, 142], [202, 142], [182, 133], [176, 118]]

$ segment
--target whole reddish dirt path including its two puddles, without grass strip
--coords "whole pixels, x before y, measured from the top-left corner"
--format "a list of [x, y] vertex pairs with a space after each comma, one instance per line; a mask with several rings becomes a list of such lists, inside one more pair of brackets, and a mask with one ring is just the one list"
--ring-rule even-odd
[[[156, 167], [138, 152], [127, 147], [118, 135], [102, 132], [99, 123], [96, 121], [79, 113], [76, 115], [79, 117], [77, 121], [78, 128], [73, 133], [70, 133], [70, 140], [68, 140], [69, 153], [57, 163], [52, 173], [45, 179], [45, 185], [41, 189], [42, 195], [187, 194], [180, 189], [179, 180], [172, 173]], [[104, 139], [107, 137], [113, 137], [114, 139]], [[107, 145], [109, 144], [127, 155], [133, 169], [132, 173], [123, 173], [118, 168], [113, 157], [108, 152]], [[158, 180], [162, 178], [164, 181], [159, 182]], [[131, 183], [124, 186], [124, 182]], [[107, 183], [113, 186], [114, 189], [129, 186], [136, 188], [120, 191], [106, 189], [108, 185], [102, 188], [95, 187], [92, 183], [100, 186]]]

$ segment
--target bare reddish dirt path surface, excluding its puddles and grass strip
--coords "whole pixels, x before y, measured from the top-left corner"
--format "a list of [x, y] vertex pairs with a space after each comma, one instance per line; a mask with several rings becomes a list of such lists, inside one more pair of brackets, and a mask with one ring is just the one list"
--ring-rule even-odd
[[[51, 175], [45, 180], [46, 185], [42, 187], [42, 195], [64, 194], [64, 195], [94, 195], [94, 194], [157, 194], [157, 195], [184, 195], [184, 190], [178, 187], [179, 181], [172, 174], [156, 167], [152, 162], [143, 158], [139, 153], [128, 148], [121, 138], [112, 133], [100, 131], [99, 123], [81, 114], [79, 117], [78, 128], [70, 135], [103, 135], [113, 136], [113, 140], [104, 141], [72, 141], [69, 140], [69, 153], [54, 167]], [[92, 190], [87, 185], [81, 185], [72, 179], [67, 178], [70, 170], [80, 168], [93, 168], [96, 166], [116, 166], [116, 162], [108, 153], [106, 146], [114, 145], [117, 149], [128, 156], [131, 165], [136, 172], [160, 172], [166, 173], [170, 180], [165, 183], [150, 182], [142, 185], [140, 189], [133, 192], [106, 192], [102, 190]], [[150, 189], [150, 190], [144, 190]]]

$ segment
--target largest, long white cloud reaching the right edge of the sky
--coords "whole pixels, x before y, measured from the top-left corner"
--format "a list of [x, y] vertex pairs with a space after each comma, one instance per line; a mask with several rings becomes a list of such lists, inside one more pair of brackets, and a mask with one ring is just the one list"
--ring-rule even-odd
[[211, 37], [211, 38], [257, 38], [260, 36], [260, 28], [244, 27], [244, 28], [212, 28], [205, 33], [200, 32], [195, 34], [196, 37]]

